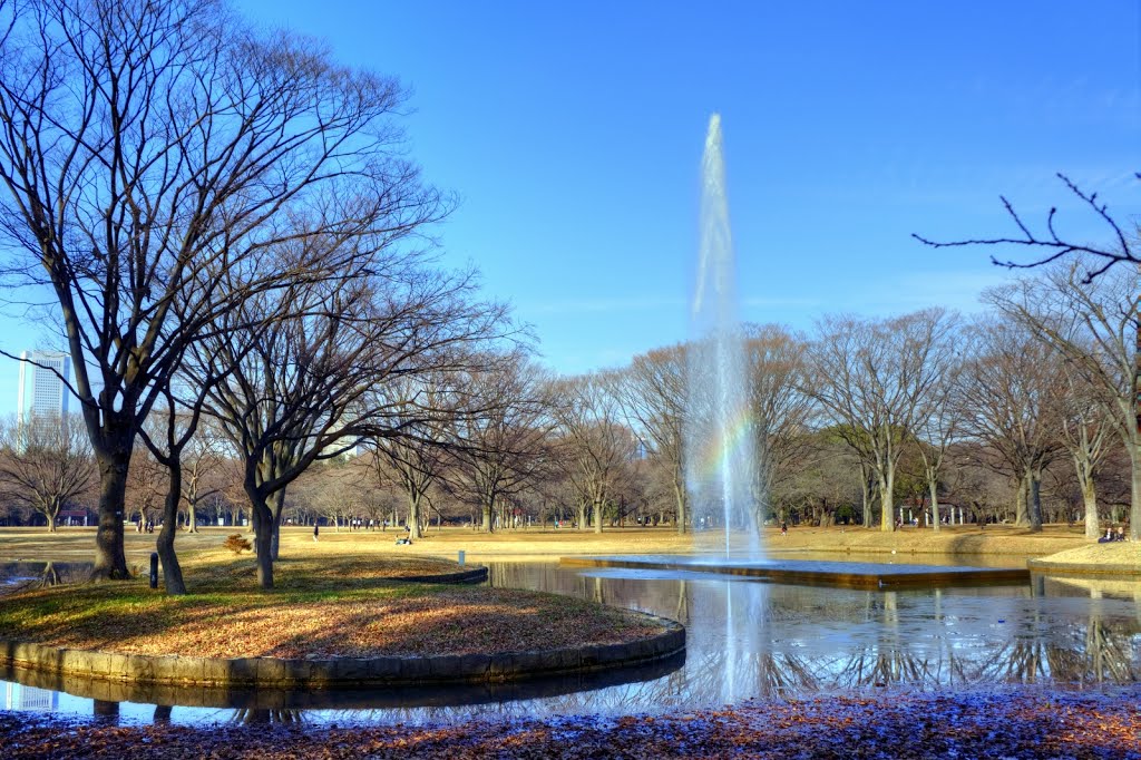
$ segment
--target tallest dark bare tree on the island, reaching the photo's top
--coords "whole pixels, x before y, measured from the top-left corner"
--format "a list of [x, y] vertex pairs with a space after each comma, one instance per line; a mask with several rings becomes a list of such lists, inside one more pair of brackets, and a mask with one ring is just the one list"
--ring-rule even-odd
[[[72, 355], [100, 472], [97, 577], [128, 575], [135, 437], [186, 343], [245, 297], [230, 285], [292, 280], [264, 252], [299, 234], [395, 236], [440, 216], [399, 153], [402, 100], [216, 0], [0, 5], [6, 273], [52, 293]], [[347, 248], [309, 268], [350, 268], [330, 254]]]

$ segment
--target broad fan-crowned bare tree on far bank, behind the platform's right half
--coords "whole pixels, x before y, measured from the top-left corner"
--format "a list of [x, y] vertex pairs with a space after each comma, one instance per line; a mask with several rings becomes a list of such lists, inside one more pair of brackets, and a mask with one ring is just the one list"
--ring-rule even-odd
[[955, 320], [928, 309], [881, 322], [828, 317], [811, 349], [810, 388], [880, 491], [892, 529], [896, 464], [952, 353]]

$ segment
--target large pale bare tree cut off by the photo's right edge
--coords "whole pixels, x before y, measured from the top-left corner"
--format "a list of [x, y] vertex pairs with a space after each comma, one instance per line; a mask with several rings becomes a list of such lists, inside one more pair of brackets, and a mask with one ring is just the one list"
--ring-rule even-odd
[[[1003, 314], [1067, 359], [1093, 399], [1107, 406], [1132, 464], [1131, 537], [1141, 540], [1141, 277], [1120, 268], [1089, 278], [1084, 260], [988, 291]], [[1089, 417], [1089, 414], [1086, 414]], [[1087, 442], [1089, 443], [1089, 442]]]

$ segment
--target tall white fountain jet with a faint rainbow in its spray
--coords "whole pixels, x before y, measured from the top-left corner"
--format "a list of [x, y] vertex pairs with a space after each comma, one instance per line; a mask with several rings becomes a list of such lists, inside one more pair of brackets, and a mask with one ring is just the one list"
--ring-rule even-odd
[[685, 452], [697, 529], [725, 534], [725, 551], [761, 558], [754, 434], [745, 340], [737, 315], [721, 116], [710, 116], [702, 160], [701, 250], [690, 314]]

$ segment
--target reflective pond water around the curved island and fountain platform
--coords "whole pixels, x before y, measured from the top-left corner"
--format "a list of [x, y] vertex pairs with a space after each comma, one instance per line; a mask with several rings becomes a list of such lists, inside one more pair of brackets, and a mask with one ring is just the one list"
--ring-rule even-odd
[[[180, 700], [178, 689], [115, 697], [84, 693], [68, 681], [56, 686], [84, 698], [59, 694], [43, 709], [113, 714], [122, 721], [421, 723], [654, 712], [863, 689], [1093, 686], [1141, 677], [1141, 583], [1118, 583], [1102, 592], [1035, 576], [1025, 587], [881, 592], [523, 563], [492, 564], [489, 569], [488, 583], [495, 587], [553, 591], [681, 621], [687, 629], [685, 662], [612, 682], [544, 687], [536, 681], [508, 690], [456, 687], [431, 695], [388, 689], [283, 696], [262, 690], [244, 701], [234, 701], [238, 695], [232, 693], [229, 702], [196, 702], [229, 708], [170, 708], [194, 702]], [[84, 688], [97, 685], [87, 684]], [[102, 703], [114, 697], [118, 706], [111, 711], [94, 697]], [[115, 702], [124, 698], [129, 701], [121, 705]]]

